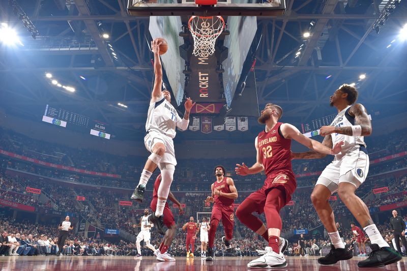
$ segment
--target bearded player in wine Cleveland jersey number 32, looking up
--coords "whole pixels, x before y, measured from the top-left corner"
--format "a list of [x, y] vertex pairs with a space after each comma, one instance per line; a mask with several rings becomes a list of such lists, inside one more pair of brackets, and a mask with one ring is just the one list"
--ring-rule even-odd
[[[334, 148], [329, 148], [305, 137], [293, 125], [280, 123], [278, 119], [282, 115], [282, 109], [275, 104], [267, 104], [258, 118], [260, 124], [265, 124], [265, 130], [261, 131], [254, 140], [257, 157], [252, 167], [244, 163], [236, 165], [236, 173], [239, 175], [255, 174], [265, 170], [267, 178], [262, 188], [250, 194], [236, 210], [236, 216], [247, 227], [266, 238], [269, 242], [265, 254], [247, 264], [255, 268], [279, 268], [287, 266], [284, 255], [279, 246], [282, 222], [280, 209], [290, 201], [297, 183], [291, 164], [291, 140], [307, 146], [324, 154], [335, 155], [340, 152], [338, 142]], [[252, 213], [265, 213], [267, 228]], [[285, 243], [285, 242], [284, 242]]]

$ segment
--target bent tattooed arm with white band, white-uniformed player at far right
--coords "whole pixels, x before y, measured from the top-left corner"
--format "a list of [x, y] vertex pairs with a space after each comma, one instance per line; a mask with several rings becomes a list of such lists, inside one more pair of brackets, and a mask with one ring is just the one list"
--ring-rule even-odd
[[349, 109], [349, 114], [355, 117], [355, 125], [342, 127], [323, 126], [319, 129], [319, 133], [322, 136], [332, 133], [348, 136], [369, 136], [372, 133], [372, 124], [363, 105], [354, 104]]

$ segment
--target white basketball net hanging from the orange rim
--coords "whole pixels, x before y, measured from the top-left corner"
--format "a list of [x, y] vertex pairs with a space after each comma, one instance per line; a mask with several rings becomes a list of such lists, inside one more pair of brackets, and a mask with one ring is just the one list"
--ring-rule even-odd
[[215, 42], [225, 28], [222, 16], [192, 16], [188, 21], [189, 31], [194, 39], [193, 54], [208, 57], [215, 52]]

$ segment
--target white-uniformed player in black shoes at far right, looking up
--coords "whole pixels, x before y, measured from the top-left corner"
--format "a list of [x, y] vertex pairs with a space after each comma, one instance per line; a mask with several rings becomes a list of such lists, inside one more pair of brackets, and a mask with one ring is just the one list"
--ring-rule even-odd
[[[345, 249], [335, 225], [335, 218], [329, 204], [329, 197], [338, 195], [352, 215], [358, 220], [371, 241], [372, 254], [358, 263], [359, 267], [379, 267], [401, 260], [391, 249], [370, 217], [366, 204], [355, 195], [356, 189], [365, 181], [369, 170], [369, 157], [363, 137], [372, 131], [366, 109], [354, 104], [358, 99], [355, 87], [343, 84], [331, 96], [330, 105], [336, 107], [338, 115], [331, 126], [323, 126], [320, 134], [325, 136], [323, 144], [332, 147], [343, 141], [342, 150], [319, 176], [311, 194], [311, 201], [331, 238], [331, 251], [318, 259], [321, 264], [334, 264], [339, 260], [352, 258], [352, 252]], [[293, 159], [323, 158], [316, 152], [292, 154]]]

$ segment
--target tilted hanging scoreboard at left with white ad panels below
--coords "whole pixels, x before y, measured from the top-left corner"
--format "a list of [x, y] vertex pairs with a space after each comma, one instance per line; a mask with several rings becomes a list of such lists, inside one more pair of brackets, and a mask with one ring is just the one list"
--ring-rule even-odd
[[45, 106], [42, 121], [81, 132], [90, 132], [91, 135], [110, 139], [110, 134], [106, 133], [106, 130], [109, 130], [107, 124], [99, 122], [96, 119], [91, 120], [88, 116], [66, 109], [53, 107], [48, 104]]

